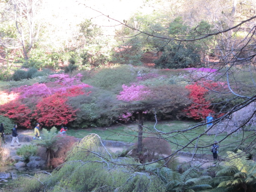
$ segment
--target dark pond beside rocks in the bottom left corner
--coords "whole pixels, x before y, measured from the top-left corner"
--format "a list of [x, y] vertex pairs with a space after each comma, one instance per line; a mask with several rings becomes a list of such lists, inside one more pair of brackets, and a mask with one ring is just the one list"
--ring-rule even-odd
[[2, 188], [8, 185], [13, 179], [16, 179], [18, 176], [23, 174], [34, 176], [36, 173], [51, 171], [52, 170], [45, 170], [37, 167], [22, 167], [17, 169], [15, 166], [2, 166], [0, 167], [0, 192], [3, 192]]

